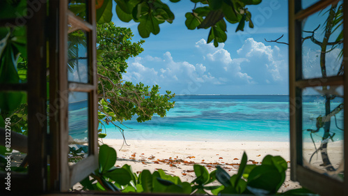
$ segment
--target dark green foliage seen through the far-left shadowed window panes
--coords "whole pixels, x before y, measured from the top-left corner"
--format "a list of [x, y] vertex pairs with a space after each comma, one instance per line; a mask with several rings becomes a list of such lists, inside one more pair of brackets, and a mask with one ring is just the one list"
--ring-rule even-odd
[[[19, 3], [19, 7], [20, 7]], [[0, 84], [26, 83], [26, 29], [0, 28]], [[26, 93], [0, 92], [0, 127], [4, 119], [11, 118], [11, 130], [24, 133], [28, 130]]]

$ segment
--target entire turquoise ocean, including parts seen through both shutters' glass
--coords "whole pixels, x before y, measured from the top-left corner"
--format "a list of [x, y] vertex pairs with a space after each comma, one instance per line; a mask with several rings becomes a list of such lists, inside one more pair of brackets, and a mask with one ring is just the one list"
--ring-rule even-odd
[[[126, 140], [180, 140], [180, 141], [272, 141], [289, 142], [289, 96], [223, 96], [191, 95], [175, 96], [175, 107], [166, 117], [157, 115], [151, 121], [138, 123], [136, 116], [124, 121]], [[86, 101], [83, 101], [86, 102]], [[70, 103], [70, 135], [82, 139], [86, 136], [86, 122], [81, 114], [87, 108], [83, 102]], [[331, 107], [337, 107], [342, 99], [335, 98]], [[303, 129], [315, 129], [316, 118], [324, 115], [322, 96], [303, 97]], [[337, 117], [342, 128], [343, 112]], [[331, 119], [331, 132], [335, 140], [342, 140], [342, 130]], [[84, 122], [81, 122], [84, 121]], [[322, 131], [322, 130], [321, 130]], [[103, 130], [104, 132], [104, 130]], [[111, 123], [106, 126], [107, 139], [122, 139], [120, 131]], [[321, 140], [322, 133], [315, 133]], [[310, 141], [308, 131], [303, 131], [305, 141]]]

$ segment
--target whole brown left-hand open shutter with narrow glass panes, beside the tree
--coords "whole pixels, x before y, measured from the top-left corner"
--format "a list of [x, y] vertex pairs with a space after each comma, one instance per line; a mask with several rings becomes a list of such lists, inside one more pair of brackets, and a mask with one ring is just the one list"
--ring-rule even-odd
[[98, 164], [95, 1], [52, 1], [50, 13], [50, 184], [67, 191]]

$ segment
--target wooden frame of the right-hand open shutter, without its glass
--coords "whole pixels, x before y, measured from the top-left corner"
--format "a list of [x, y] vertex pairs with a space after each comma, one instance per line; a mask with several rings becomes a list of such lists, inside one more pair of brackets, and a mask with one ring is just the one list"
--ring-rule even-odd
[[[316, 13], [338, 0], [322, 0], [312, 6], [301, 9], [301, 1], [289, 1], [289, 87], [290, 87], [290, 159], [291, 179], [299, 181], [302, 186], [313, 190], [320, 195], [348, 195], [348, 164], [345, 162], [344, 181], [337, 181], [329, 176], [314, 172], [303, 167], [302, 158], [302, 103], [301, 89], [308, 86], [343, 85], [344, 103], [348, 103], [348, 73], [342, 76], [314, 78], [303, 80], [302, 78], [302, 50], [301, 50], [301, 22], [304, 18]], [[348, 2], [343, 2], [344, 10], [348, 10]], [[348, 21], [348, 15], [344, 15], [344, 21]], [[344, 25], [344, 31], [347, 27]], [[344, 33], [343, 63], [348, 63], [348, 33]], [[344, 121], [348, 122], [348, 105], [344, 108]], [[344, 159], [348, 160], [348, 134], [344, 134]]]

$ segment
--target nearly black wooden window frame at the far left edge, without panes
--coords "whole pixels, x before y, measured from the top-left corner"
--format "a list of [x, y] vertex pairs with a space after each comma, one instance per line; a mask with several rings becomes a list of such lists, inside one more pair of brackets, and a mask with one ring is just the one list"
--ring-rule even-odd
[[[35, 0], [28, 0], [33, 3]], [[0, 27], [26, 27], [26, 48], [28, 57], [27, 82], [23, 84], [1, 84], [0, 91], [26, 91], [28, 103], [27, 151], [29, 170], [26, 174], [11, 172], [10, 193], [43, 193], [47, 190], [47, 45], [46, 19], [47, 1], [40, 2], [40, 8], [32, 11], [31, 17], [23, 16], [0, 20]], [[27, 6], [28, 9], [31, 9]], [[22, 21], [18, 24], [16, 21]], [[38, 31], [42, 29], [42, 31]], [[38, 118], [37, 114], [40, 114]], [[0, 174], [1, 192], [6, 190], [6, 174]], [[37, 180], [33, 180], [37, 179]], [[8, 193], [7, 193], [8, 194]]]

